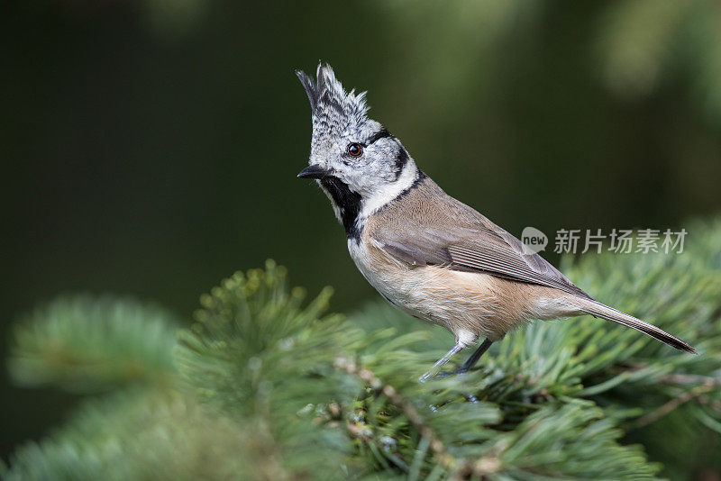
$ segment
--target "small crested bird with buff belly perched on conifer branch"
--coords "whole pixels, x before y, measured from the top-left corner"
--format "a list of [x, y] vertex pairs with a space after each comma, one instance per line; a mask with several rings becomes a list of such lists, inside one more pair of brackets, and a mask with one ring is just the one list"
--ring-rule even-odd
[[[396, 136], [370, 119], [366, 92], [346, 92], [330, 65], [297, 77], [311, 106], [308, 167], [371, 286], [403, 312], [443, 326], [453, 347], [420, 377], [468, 372], [493, 342], [532, 320], [584, 314], [689, 353], [684, 340], [601, 304], [486, 216], [446, 194]], [[483, 341], [479, 344], [479, 340]], [[441, 368], [478, 346], [460, 368]]]

